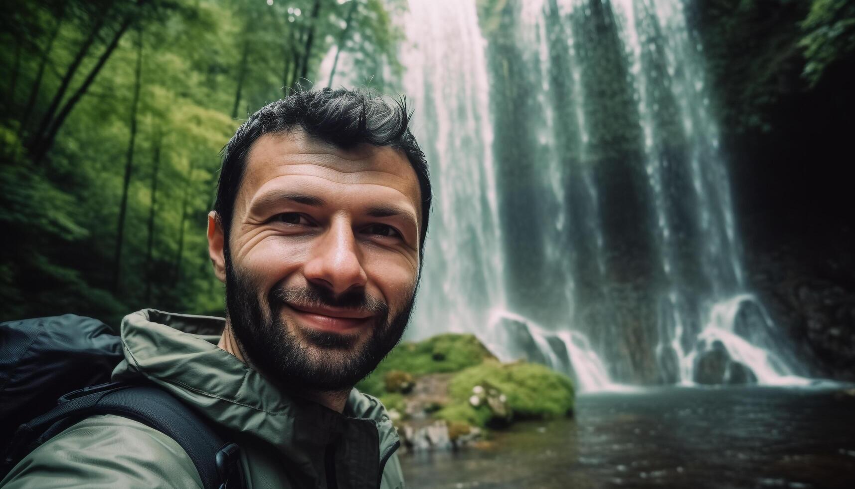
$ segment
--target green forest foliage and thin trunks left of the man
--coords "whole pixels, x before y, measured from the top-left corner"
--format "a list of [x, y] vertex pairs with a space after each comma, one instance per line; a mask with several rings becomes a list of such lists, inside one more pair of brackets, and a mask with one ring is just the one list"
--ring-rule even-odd
[[0, 320], [81, 313], [117, 324], [141, 307], [221, 314], [205, 237], [219, 152], [283, 86], [299, 76], [325, 84], [321, 60], [342, 38], [351, 2], [358, 35], [344, 51], [372, 59], [359, 76], [397, 73], [402, 33], [380, 0], [6, 5]]

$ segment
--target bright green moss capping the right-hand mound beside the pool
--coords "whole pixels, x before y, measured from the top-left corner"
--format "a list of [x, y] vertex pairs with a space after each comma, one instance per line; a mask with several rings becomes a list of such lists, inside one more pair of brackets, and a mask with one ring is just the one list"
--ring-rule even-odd
[[508, 398], [515, 417], [557, 416], [573, 409], [572, 381], [536, 363], [485, 361], [451, 379], [449, 395], [456, 402], [465, 402], [475, 385], [484, 384], [492, 385]]

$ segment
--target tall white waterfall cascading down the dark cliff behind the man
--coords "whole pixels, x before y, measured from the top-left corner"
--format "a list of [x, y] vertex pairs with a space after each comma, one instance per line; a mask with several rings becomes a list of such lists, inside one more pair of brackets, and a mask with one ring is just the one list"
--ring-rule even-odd
[[404, 29], [434, 185], [411, 337], [583, 391], [803, 380], [747, 291], [680, 0], [410, 0]]

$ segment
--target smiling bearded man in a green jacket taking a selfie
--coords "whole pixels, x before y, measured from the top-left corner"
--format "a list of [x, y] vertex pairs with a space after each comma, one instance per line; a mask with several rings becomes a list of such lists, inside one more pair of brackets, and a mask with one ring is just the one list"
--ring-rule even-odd
[[[144, 310], [121, 325], [114, 380], [145, 379], [239, 444], [247, 487], [403, 487], [398, 436], [352, 387], [398, 343], [428, 229], [430, 182], [404, 103], [298, 92], [224, 149], [209, 255], [222, 319]], [[175, 326], [175, 327], [170, 327]], [[2, 486], [199, 487], [186, 452], [127, 418], [82, 420]]]

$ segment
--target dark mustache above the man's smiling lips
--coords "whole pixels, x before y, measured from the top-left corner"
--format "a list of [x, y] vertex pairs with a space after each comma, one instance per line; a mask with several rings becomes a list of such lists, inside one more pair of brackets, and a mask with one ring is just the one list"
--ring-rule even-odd
[[271, 304], [280, 301], [297, 307], [335, 307], [365, 311], [380, 317], [389, 313], [386, 302], [367, 294], [365, 289], [353, 289], [337, 296], [330, 289], [309, 283], [306, 287], [274, 289], [270, 295]]

